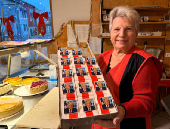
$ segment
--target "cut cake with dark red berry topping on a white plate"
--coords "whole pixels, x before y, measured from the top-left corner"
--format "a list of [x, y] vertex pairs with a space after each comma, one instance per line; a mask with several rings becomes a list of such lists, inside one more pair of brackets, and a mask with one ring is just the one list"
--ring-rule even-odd
[[46, 80], [33, 82], [30, 87], [30, 94], [40, 93], [48, 89], [48, 82]]

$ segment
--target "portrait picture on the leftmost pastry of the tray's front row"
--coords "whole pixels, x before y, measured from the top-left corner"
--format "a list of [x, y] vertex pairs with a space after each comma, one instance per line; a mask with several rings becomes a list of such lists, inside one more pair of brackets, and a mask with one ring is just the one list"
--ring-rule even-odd
[[76, 113], [77, 111], [78, 110], [76, 100], [64, 101], [64, 114]]

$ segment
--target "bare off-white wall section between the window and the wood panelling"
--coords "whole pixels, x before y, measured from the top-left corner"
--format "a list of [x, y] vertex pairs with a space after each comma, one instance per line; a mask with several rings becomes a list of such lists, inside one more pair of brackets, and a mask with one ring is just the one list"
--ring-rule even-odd
[[70, 20], [89, 21], [91, 0], [51, 0], [54, 36]]

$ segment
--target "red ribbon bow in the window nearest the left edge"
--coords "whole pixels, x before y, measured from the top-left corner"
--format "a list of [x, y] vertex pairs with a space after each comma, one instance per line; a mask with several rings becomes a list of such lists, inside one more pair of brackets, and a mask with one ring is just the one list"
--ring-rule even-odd
[[[6, 30], [7, 30], [7, 34], [8, 34], [8, 37], [13, 40], [13, 36], [14, 36], [14, 31], [12, 30], [12, 27], [11, 27], [11, 24], [9, 21], [15, 23], [15, 19], [14, 19], [14, 16], [10, 16], [8, 18], [0, 18], [1, 19], [1, 23], [3, 23], [4, 25], [6, 24]], [[3, 22], [2, 22], [3, 21]]]

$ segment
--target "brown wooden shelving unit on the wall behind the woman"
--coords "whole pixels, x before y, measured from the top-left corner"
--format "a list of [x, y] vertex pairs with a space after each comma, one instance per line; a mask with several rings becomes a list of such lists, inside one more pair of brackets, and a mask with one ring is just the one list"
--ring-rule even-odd
[[[146, 41], [147, 48], [154, 47], [162, 50], [162, 54], [160, 55], [160, 60], [164, 60], [164, 55], [166, 53], [166, 41], [170, 38], [170, 21], [160, 21], [164, 18], [164, 15], [169, 14], [169, 7], [160, 7], [160, 8], [150, 8], [150, 7], [133, 7], [139, 15], [142, 17], [148, 16], [148, 22], [140, 22], [139, 32], [162, 32], [161, 36], [138, 36], [136, 43], [140, 48], [144, 48], [144, 42]], [[114, 8], [114, 7], [113, 7]], [[102, 38], [102, 52], [110, 50], [113, 46], [110, 41], [109, 34], [109, 18], [108, 14], [112, 10], [110, 7], [106, 7], [101, 3], [101, 38]], [[104, 33], [104, 34], [103, 34]], [[170, 59], [169, 59], [170, 60]], [[170, 61], [168, 62], [170, 63]], [[166, 66], [170, 66], [169, 64], [165, 64]]]

